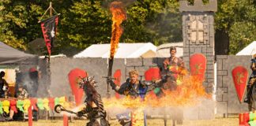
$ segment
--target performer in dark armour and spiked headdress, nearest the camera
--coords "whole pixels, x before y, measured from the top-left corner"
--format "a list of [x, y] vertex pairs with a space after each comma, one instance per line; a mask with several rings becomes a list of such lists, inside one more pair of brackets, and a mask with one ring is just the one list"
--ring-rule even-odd
[[96, 82], [92, 77], [85, 77], [79, 85], [84, 89], [86, 107], [77, 112], [77, 117], [87, 114], [89, 122], [86, 126], [108, 126], [107, 113], [104, 109], [100, 94], [96, 91]]

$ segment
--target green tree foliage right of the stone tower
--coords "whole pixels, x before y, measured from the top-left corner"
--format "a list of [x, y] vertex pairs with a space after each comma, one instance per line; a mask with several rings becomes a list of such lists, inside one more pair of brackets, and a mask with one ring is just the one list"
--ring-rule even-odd
[[254, 0], [219, 0], [216, 30], [229, 37], [229, 54], [236, 54], [256, 39], [256, 2]]

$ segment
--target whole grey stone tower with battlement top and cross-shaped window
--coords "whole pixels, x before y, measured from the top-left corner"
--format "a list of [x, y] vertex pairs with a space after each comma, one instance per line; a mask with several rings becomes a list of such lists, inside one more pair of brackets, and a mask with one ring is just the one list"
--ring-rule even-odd
[[179, 11], [183, 14], [183, 59], [189, 69], [192, 54], [204, 54], [207, 63], [205, 83], [207, 92], [212, 92], [214, 83], [214, 18], [217, 10], [216, 0], [204, 4], [194, 0], [194, 5], [187, 1], [179, 1]]

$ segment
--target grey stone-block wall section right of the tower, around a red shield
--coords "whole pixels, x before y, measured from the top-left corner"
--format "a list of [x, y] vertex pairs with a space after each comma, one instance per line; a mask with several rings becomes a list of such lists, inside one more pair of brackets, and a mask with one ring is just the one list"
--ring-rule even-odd
[[[240, 103], [235, 92], [235, 85], [232, 80], [232, 69], [238, 65], [245, 67], [249, 76], [250, 56], [216, 56], [216, 115], [228, 117], [234, 113], [248, 111], [246, 103]], [[246, 93], [245, 93], [246, 95]]]

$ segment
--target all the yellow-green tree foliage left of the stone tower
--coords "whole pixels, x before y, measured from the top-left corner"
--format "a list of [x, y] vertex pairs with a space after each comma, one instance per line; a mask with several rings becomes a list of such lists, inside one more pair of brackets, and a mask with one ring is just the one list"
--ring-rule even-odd
[[[1, 1], [0, 40], [26, 50], [33, 39], [42, 38], [37, 23], [49, 5], [47, 1]], [[63, 50], [81, 50], [91, 44], [110, 43], [110, 2], [101, 0], [53, 0], [61, 13], [55, 54]], [[141, 0], [126, 4], [127, 20], [123, 22], [122, 43], [161, 43], [182, 41], [179, 3], [175, 0]], [[177, 34], [178, 33], [178, 34]], [[69, 53], [69, 52], [68, 52]]]

